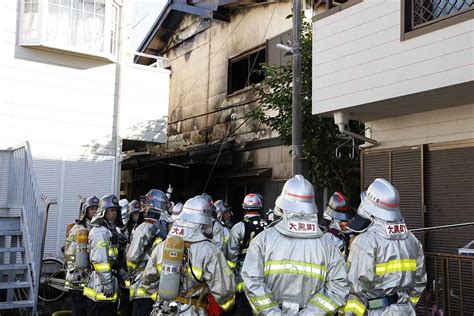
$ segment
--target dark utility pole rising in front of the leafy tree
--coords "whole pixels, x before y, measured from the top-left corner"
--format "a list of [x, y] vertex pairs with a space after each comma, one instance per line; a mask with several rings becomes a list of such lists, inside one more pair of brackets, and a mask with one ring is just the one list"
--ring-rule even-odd
[[293, 98], [291, 143], [293, 153], [293, 176], [302, 174], [301, 131], [301, 0], [293, 0]]

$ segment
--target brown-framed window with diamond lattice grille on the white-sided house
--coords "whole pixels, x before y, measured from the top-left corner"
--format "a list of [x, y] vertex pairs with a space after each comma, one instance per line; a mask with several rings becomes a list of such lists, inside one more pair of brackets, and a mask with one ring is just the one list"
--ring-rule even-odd
[[[474, 1], [404, 0], [401, 12], [402, 39], [408, 39], [472, 18]], [[404, 38], [403, 34], [411, 32], [412, 36]]]

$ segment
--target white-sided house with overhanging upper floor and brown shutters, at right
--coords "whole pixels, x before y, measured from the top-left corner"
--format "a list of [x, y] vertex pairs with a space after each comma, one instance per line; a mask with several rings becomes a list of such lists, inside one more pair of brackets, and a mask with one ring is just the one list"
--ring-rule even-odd
[[[313, 18], [313, 114], [365, 122], [378, 145], [362, 151], [361, 187], [390, 180], [410, 228], [474, 218], [473, 17], [472, 1], [352, 0]], [[454, 254], [474, 227], [417, 236]], [[464, 301], [472, 314], [472, 266], [461, 272], [451, 257], [449, 279], [440, 258], [427, 256], [427, 291], [444, 289], [442, 308], [460, 314]]]

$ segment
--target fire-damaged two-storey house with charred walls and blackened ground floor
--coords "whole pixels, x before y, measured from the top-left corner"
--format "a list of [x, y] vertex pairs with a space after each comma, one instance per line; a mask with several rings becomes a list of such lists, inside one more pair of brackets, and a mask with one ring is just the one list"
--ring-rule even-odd
[[257, 192], [273, 208], [291, 176], [289, 147], [246, 115], [257, 106], [251, 86], [262, 80], [260, 63], [291, 61], [276, 44], [290, 38], [292, 3], [192, 3], [168, 1], [139, 49], [168, 59], [168, 143], [124, 162], [128, 196], [171, 184], [182, 202], [206, 191], [240, 211], [245, 193]]

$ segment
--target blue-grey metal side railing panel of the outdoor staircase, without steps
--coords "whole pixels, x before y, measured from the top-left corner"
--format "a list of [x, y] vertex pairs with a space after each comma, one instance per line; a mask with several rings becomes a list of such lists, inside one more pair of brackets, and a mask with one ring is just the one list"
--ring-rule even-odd
[[[5, 152], [4, 152], [5, 153]], [[9, 150], [8, 208], [21, 212], [23, 240], [33, 281], [34, 311], [40, 285], [42, 260], [44, 203], [40, 198], [38, 182], [33, 169], [33, 158], [27, 143]]]

